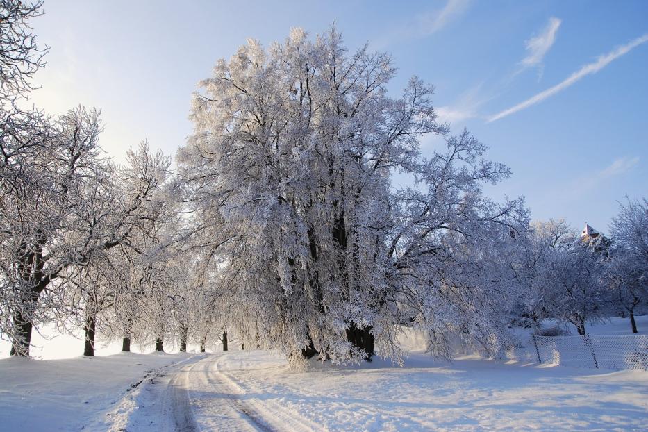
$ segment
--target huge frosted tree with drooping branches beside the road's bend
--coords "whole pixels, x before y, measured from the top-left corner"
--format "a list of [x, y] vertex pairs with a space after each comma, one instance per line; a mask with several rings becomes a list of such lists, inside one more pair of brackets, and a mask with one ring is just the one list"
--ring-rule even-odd
[[[249, 41], [201, 83], [178, 163], [238, 333], [263, 329], [292, 358], [398, 358], [398, 324], [429, 330], [438, 355], [457, 333], [501, 347], [513, 285], [489, 266], [526, 229], [522, 201], [483, 197], [508, 168], [447, 135], [418, 78], [390, 97], [395, 70], [367, 46], [349, 54], [335, 28], [295, 29], [267, 50]], [[429, 158], [427, 133], [447, 141]], [[398, 171], [416, 186], [395, 188]]]

